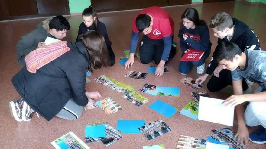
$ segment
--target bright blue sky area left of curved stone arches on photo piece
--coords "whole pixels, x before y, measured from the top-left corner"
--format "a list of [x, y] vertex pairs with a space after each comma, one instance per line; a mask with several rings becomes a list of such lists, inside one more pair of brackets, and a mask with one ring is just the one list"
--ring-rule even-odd
[[85, 126], [85, 137], [106, 138], [105, 125]]

